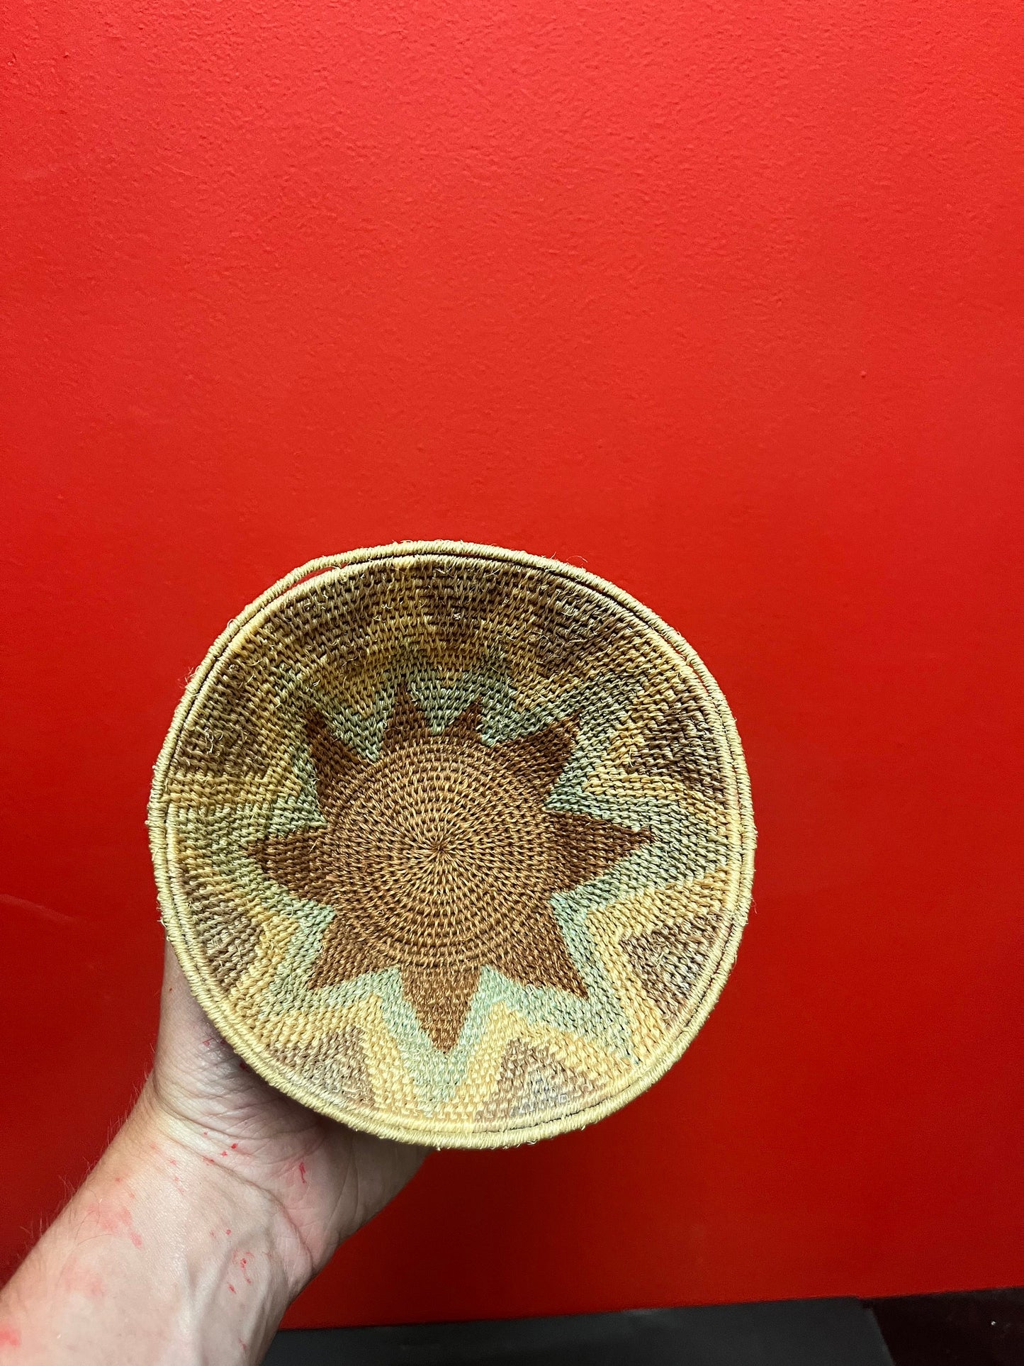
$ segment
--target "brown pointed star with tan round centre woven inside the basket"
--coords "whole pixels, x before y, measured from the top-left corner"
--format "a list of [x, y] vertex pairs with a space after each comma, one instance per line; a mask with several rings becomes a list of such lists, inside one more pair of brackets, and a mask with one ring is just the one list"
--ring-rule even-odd
[[479, 720], [475, 702], [434, 735], [403, 687], [370, 761], [310, 712], [306, 738], [325, 824], [248, 847], [268, 877], [336, 912], [309, 985], [397, 967], [419, 1022], [445, 1052], [486, 966], [586, 997], [552, 893], [590, 881], [651, 839], [547, 809], [576, 716], [501, 744], [481, 739]]

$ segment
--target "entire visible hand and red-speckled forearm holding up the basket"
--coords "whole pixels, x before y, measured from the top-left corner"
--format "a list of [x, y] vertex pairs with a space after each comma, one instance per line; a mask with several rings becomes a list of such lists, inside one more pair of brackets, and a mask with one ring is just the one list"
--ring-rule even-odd
[[288, 1303], [423, 1156], [251, 1072], [168, 948], [153, 1072], [0, 1294], [0, 1358], [255, 1366]]

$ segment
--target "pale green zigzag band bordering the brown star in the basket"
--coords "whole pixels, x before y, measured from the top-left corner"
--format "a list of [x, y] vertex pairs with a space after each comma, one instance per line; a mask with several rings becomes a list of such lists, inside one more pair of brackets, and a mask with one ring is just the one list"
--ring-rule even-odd
[[[291, 709], [283, 694], [298, 691], [302, 705], [292, 702], [296, 716], [310, 705], [319, 708], [340, 739], [366, 758], [375, 759], [395, 694], [403, 679], [423, 708], [427, 724], [436, 734], [444, 731], [467, 706], [481, 698], [481, 736], [492, 744], [528, 735], [579, 709], [582, 714], [578, 746], [552, 791], [550, 807], [582, 811], [635, 829], [649, 829], [655, 840], [621, 859], [602, 877], [552, 897], [552, 910], [580, 977], [587, 985], [587, 1000], [552, 988], [526, 986], [493, 968], [485, 968], [459, 1041], [449, 1053], [444, 1053], [434, 1048], [406, 1000], [397, 968], [367, 973], [350, 982], [339, 982], [315, 992], [303, 985], [319, 956], [324, 932], [335, 912], [318, 902], [285, 893], [299, 933], [292, 937], [288, 955], [274, 974], [264, 1005], [266, 1015], [273, 1016], [280, 1011], [295, 1008], [315, 1014], [326, 1007], [345, 1005], [371, 994], [378, 996], [385, 1023], [396, 1038], [419, 1102], [427, 1115], [449, 1100], [464, 1078], [470, 1057], [486, 1031], [490, 1009], [496, 1001], [504, 1001], [531, 1023], [546, 1023], [588, 1037], [639, 1065], [632, 1053], [629, 1022], [598, 958], [587, 928], [587, 912], [629, 891], [651, 885], [666, 887], [700, 877], [711, 867], [721, 866], [728, 858], [726, 843], [709, 829], [702, 831], [700, 847], [694, 843], [695, 817], [674, 803], [653, 798], [628, 802], [598, 799], [582, 790], [594, 764], [587, 755], [603, 754], [625, 719], [632, 698], [643, 687], [643, 679], [599, 676], [567, 691], [552, 708], [520, 712], [515, 706], [515, 690], [508, 673], [497, 658], [487, 661], [483, 668], [464, 673], [453, 684], [446, 684], [430, 665], [406, 660], [390, 671], [369, 717], [310, 688], [307, 680], [296, 675], [279, 680], [281, 687], [279, 705], [284, 703], [283, 710]], [[292, 794], [289, 800], [281, 800], [270, 813], [264, 805], [236, 807], [232, 813], [235, 831], [231, 848], [224, 844], [212, 847], [202, 839], [201, 826], [205, 824], [202, 813], [193, 813], [194, 818], [187, 821], [187, 828], [193, 837], [197, 837], [197, 844], [203, 846], [206, 856], [228, 877], [243, 884], [248, 895], [255, 899], [266, 896], [265, 876], [254, 862], [232, 856], [232, 850], [236, 850], [240, 841], [259, 839], [268, 831], [287, 833], [302, 825], [322, 824], [313, 765], [302, 740], [296, 743], [294, 764], [296, 776], [302, 781], [299, 803], [295, 803]], [[186, 829], [182, 833], [186, 835]], [[280, 904], [281, 889], [276, 885], [274, 891]]]

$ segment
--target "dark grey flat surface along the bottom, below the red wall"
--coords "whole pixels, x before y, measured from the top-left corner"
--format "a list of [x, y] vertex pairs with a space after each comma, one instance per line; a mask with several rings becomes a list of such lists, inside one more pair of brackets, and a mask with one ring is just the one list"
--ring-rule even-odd
[[856, 1299], [508, 1322], [292, 1329], [269, 1366], [892, 1366]]

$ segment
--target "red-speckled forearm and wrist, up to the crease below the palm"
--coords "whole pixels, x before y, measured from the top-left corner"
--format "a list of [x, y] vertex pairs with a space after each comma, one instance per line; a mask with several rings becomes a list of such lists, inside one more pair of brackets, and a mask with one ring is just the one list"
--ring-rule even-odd
[[309, 1261], [273, 1197], [172, 1131], [143, 1093], [4, 1291], [26, 1366], [262, 1359]]

